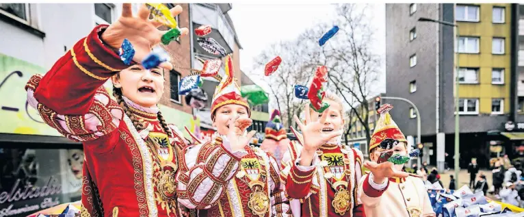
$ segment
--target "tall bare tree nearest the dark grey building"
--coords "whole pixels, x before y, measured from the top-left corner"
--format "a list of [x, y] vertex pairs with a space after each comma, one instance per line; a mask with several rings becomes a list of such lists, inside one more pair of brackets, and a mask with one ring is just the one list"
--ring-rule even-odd
[[[300, 36], [300, 41], [309, 44], [306, 65], [328, 67], [328, 90], [337, 92], [350, 107], [350, 116], [354, 115], [364, 127], [369, 144], [369, 99], [373, 97], [380, 68], [380, 56], [371, 49], [374, 29], [367, 16], [367, 5], [341, 4], [335, 11], [333, 23], [321, 23]], [[319, 47], [318, 38], [334, 24], [339, 26], [339, 32]], [[315, 43], [316, 47], [312, 45]], [[346, 144], [350, 127], [352, 123], [345, 130]]]

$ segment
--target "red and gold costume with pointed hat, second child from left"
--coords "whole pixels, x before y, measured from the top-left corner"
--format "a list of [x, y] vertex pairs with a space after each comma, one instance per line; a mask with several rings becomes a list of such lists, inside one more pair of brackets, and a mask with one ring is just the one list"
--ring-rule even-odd
[[[226, 77], [215, 90], [211, 114], [228, 104], [249, 105], [233, 78], [231, 57]], [[288, 216], [289, 205], [274, 157], [246, 146], [231, 151], [226, 136], [183, 150], [179, 201], [197, 216]]]

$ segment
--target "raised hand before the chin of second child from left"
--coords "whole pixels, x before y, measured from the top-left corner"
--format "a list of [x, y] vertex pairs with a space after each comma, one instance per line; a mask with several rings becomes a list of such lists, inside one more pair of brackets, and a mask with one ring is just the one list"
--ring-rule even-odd
[[253, 138], [254, 133], [257, 131], [250, 131], [246, 136], [244, 136], [244, 131], [251, 126], [253, 120], [251, 118], [239, 118], [235, 116], [231, 118], [228, 122], [229, 131], [227, 133], [227, 138], [231, 145], [232, 151], [239, 151], [244, 149], [246, 145], [249, 144], [249, 141]]

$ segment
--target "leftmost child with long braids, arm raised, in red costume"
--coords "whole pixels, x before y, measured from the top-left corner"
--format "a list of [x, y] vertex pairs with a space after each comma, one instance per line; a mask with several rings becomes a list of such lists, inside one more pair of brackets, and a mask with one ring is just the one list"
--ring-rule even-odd
[[[185, 142], [157, 107], [172, 64], [150, 70], [137, 64], [164, 32], [146, 5], [137, 16], [131, 4], [122, 7], [118, 21], [96, 26], [43, 77], [31, 77], [27, 100], [45, 123], [83, 142], [81, 216], [181, 216], [173, 185]], [[118, 56], [125, 38], [135, 49], [131, 66]], [[103, 88], [108, 79], [116, 100]]]

